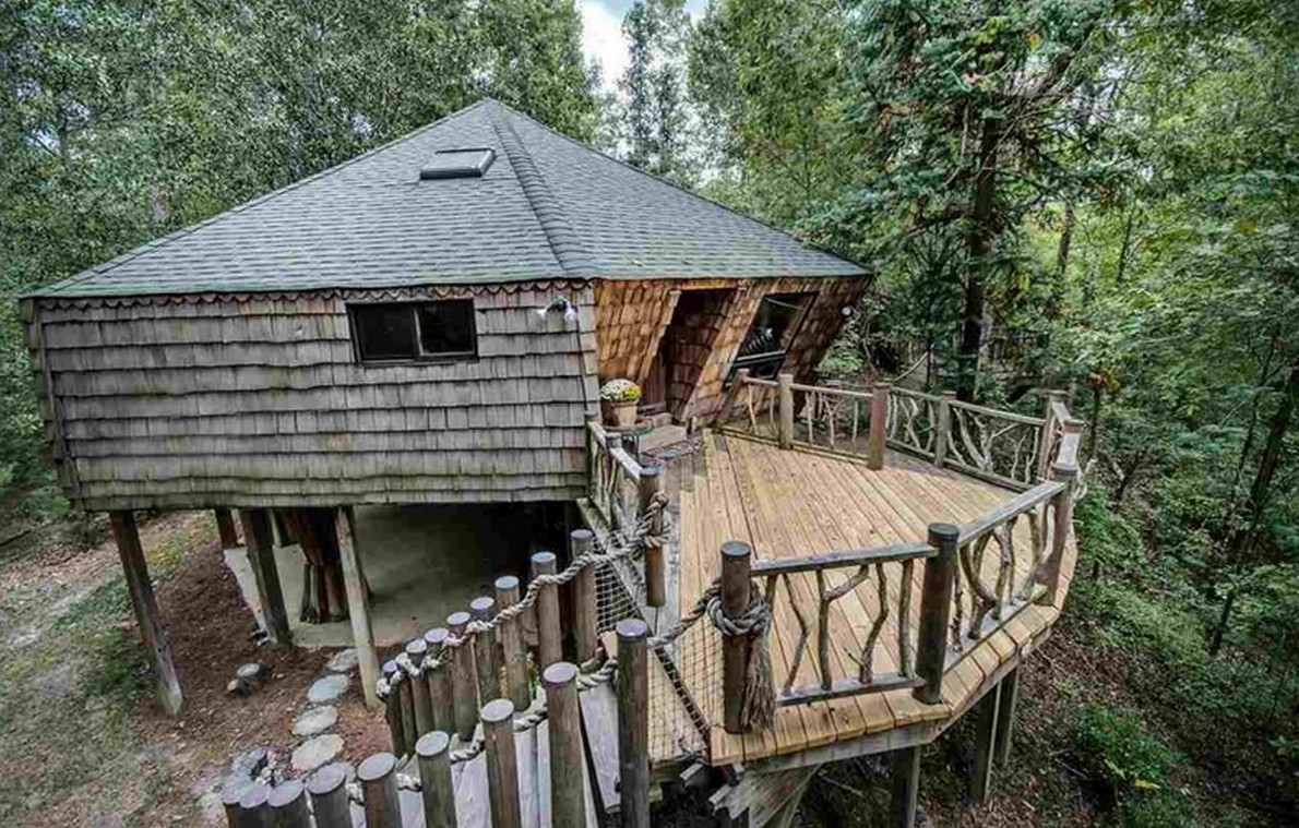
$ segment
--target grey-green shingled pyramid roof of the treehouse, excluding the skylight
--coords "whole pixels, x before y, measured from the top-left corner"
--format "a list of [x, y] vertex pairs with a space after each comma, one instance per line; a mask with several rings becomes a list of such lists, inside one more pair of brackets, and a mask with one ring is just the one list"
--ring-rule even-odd
[[[464, 148], [492, 148], [495, 162], [481, 178], [421, 180], [434, 153]], [[483, 100], [32, 295], [861, 274]]]

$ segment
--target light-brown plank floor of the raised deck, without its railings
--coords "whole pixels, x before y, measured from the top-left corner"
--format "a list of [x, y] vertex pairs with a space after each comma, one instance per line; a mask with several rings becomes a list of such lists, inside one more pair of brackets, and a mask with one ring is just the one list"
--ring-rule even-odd
[[[670, 463], [670, 489], [677, 501], [673, 528], [675, 589], [669, 609], [686, 610], [717, 578], [720, 546], [743, 540], [755, 558], [790, 558], [816, 553], [876, 548], [898, 541], [922, 540], [935, 522], [966, 523], [987, 514], [1016, 494], [1009, 489], [937, 469], [911, 456], [890, 452], [885, 469], [873, 471], [859, 459], [814, 449], [781, 450], [773, 443], [731, 433], [705, 432], [703, 449]], [[1028, 522], [1015, 530], [1016, 544], [1029, 549]], [[1017, 561], [1022, 578], [1030, 566], [1028, 554]], [[982, 562], [985, 578], [996, 576], [998, 555]], [[1060, 601], [1072, 576], [1073, 555], [1061, 574]], [[830, 574], [831, 585], [850, 571]], [[902, 581], [902, 565], [886, 565], [889, 594], [894, 598]], [[816, 606], [817, 591], [811, 574], [791, 579], [794, 596], [774, 602], [769, 633], [772, 667], [777, 685], [785, 683], [799, 639], [799, 623], [791, 609]], [[912, 585], [912, 628], [920, 623], [920, 578]], [[781, 587], [781, 592], [786, 591]], [[896, 601], [890, 601], [896, 606]], [[839, 670], [856, 670], [856, 653], [877, 616], [874, 589], [855, 589], [835, 602], [830, 629], [831, 653]], [[948, 666], [943, 701], [924, 705], [909, 689], [887, 690], [781, 707], [776, 725], [764, 732], [731, 736], [722, 722], [722, 667], [720, 635], [709, 623], [695, 624], [673, 649], [682, 687], [708, 724], [708, 761], [712, 764], [752, 763], [804, 751], [833, 742], [909, 725], [942, 727], [972, 703], [1000, 672], [1013, 666], [1021, 653], [1050, 633], [1059, 616], [1057, 606], [1028, 605], [994, 635], [968, 646]], [[899, 658], [896, 611], [890, 613], [885, 633], [874, 648], [879, 671], [896, 670]], [[814, 633], [813, 644], [814, 646]], [[816, 683], [816, 659], [803, 658], [795, 684]], [[651, 745], [656, 762], [673, 758], [677, 741], [664, 728], [681, 716], [652, 715]]]

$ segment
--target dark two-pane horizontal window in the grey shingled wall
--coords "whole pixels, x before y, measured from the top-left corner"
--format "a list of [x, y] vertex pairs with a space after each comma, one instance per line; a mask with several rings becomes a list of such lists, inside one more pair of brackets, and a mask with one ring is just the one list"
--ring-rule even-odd
[[478, 356], [470, 298], [349, 305], [348, 311], [361, 362], [473, 359]]

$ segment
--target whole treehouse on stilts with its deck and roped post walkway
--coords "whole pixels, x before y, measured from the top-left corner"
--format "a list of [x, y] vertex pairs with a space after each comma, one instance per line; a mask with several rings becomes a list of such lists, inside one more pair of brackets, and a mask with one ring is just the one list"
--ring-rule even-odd
[[[385, 710], [362, 802], [326, 768], [233, 820], [639, 827], [688, 785], [787, 825], [817, 766], [887, 751], [911, 825], [920, 750], [966, 711], [976, 798], [1005, 761], [1073, 570], [1078, 424], [1056, 396], [814, 384], [866, 278], [483, 101], [22, 310], [160, 705], [182, 689], [134, 514], [213, 509], [270, 637], [346, 622]], [[601, 423], [611, 379], [643, 388], [630, 427]], [[430, 509], [477, 530], [421, 533]], [[448, 561], [496, 567], [490, 594], [403, 605]], [[418, 629], [385, 631], [394, 606]]]

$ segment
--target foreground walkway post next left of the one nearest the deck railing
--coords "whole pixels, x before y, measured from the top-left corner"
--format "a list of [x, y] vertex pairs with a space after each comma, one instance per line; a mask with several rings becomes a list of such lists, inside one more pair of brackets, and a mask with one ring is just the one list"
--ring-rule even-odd
[[551, 741], [551, 824], [585, 828], [586, 758], [577, 701], [577, 664], [559, 662], [542, 674]]

